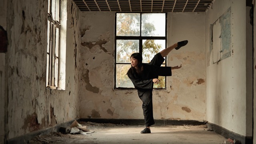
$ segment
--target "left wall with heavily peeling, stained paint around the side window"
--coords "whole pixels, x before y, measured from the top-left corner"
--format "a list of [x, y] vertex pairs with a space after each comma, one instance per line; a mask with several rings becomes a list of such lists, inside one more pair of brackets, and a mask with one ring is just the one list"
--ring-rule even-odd
[[67, 13], [66, 89], [46, 90], [48, 0], [8, 0], [8, 139], [78, 118], [79, 11]]

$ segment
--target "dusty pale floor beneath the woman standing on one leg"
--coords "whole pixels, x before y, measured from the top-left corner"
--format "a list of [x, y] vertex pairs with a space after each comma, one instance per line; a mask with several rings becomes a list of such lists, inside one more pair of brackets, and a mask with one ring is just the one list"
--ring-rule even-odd
[[[151, 134], [140, 134], [144, 126], [116, 124], [87, 125], [91, 134], [53, 132], [37, 136], [29, 144], [224, 144], [227, 138], [204, 126], [152, 126]], [[229, 143], [229, 142], [226, 142]]]

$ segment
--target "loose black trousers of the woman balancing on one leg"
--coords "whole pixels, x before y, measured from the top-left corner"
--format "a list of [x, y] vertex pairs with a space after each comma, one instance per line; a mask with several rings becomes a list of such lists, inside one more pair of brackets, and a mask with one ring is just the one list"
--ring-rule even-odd
[[[161, 64], [163, 64], [163, 62], [164, 62], [164, 58], [162, 57], [162, 55], [160, 53], [158, 53], [154, 56], [154, 58], [148, 64], [152, 64], [155, 66], [161, 66]], [[149, 98], [150, 98], [150, 102], [148, 104], [145, 104], [144, 102], [142, 104], [144, 121], [145, 121], [146, 127], [155, 124], [154, 118], [153, 118], [152, 90], [151, 90], [151, 95], [149, 96]]]

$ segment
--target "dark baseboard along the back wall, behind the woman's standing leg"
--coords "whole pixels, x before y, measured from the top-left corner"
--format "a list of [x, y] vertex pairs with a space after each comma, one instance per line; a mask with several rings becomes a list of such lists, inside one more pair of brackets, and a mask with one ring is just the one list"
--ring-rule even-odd
[[[96, 123], [111, 123], [111, 124], [125, 124], [125, 125], [145, 125], [144, 119], [104, 119], [104, 118], [80, 118], [81, 122], [96, 122]], [[166, 125], [202, 125], [204, 122], [197, 120], [154, 120], [154, 126], [166, 126]]]

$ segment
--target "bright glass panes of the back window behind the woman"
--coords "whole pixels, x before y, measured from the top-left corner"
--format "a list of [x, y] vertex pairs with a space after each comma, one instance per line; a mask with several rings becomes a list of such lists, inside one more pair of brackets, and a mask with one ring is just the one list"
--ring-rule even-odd
[[[126, 75], [130, 56], [140, 52], [143, 63], [166, 48], [166, 13], [116, 13], [115, 88], [130, 89], [134, 85]], [[166, 63], [162, 66], [166, 66]], [[166, 77], [160, 76], [155, 89], [166, 88]]]

